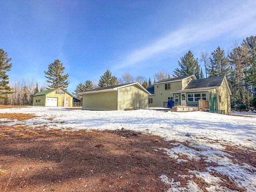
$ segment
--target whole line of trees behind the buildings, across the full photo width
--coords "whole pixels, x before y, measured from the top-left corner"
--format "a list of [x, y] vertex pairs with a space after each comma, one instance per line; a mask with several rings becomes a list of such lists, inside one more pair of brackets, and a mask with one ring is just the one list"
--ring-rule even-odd
[[[68, 87], [68, 74], [64, 74], [65, 67], [60, 60], [49, 64], [48, 71], [44, 71], [47, 85], [41, 86], [31, 80], [15, 80], [9, 83], [6, 72], [12, 68], [11, 58], [0, 49], [0, 104], [32, 105], [32, 96], [47, 89]], [[202, 64], [202, 67], [201, 65]], [[170, 77], [187, 76], [194, 74], [196, 78], [206, 78], [225, 75], [232, 92], [231, 103], [233, 108], [248, 108], [256, 106], [256, 36], [247, 37], [241, 44], [235, 43], [231, 51], [224, 51], [219, 46], [210, 54], [201, 52], [200, 59], [194, 58], [191, 50], [178, 61], [179, 68], [170, 73], [165, 70], [154, 74], [154, 82]], [[72, 94], [81, 98], [80, 92], [98, 87], [113, 86], [139, 82], [144, 88], [152, 84], [150, 78], [134, 77], [126, 72], [120, 78], [113, 76], [110, 70], [100, 76], [98, 82], [86, 80], [76, 86]]]

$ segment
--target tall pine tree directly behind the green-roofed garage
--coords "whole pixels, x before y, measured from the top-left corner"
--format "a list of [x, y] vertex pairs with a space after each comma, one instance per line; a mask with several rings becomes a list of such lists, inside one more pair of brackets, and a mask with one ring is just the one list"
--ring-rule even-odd
[[68, 74], [63, 75], [65, 67], [60, 60], [55, 60], [48, 66], [48, 71], [45, 71], [47, 82], [49, 83], [48, 89], [62, 87], [66, 90], [68, 87]]

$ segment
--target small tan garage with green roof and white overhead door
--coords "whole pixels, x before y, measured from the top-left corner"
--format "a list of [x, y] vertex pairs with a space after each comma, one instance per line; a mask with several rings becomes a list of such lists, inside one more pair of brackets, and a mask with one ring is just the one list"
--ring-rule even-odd
[[72, 107], [73, 96], [63, 88], [49, 89], [33, 95], [33, 106]]

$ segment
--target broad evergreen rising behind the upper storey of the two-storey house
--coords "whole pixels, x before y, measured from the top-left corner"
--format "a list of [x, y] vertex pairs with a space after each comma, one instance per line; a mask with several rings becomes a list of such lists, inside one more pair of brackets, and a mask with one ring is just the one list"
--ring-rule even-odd
[[194, 54], [189, 50], [183, 57], [178, 61], [179, 68], [174, 70], [174, 76], [187, 76], [195, 75], [199, 79], [200, 65], [198, 65], [198, 58], [194, 58]]

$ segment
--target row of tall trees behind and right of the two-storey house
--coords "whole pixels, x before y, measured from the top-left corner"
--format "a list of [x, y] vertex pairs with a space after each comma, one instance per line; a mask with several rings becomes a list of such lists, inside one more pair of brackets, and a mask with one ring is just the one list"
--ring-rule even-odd
[[[230, 52], [219, 46], [211, 54], [201, 52], [200, 62], [206, 78], [227, 77], [232, 107], [256, 106], [256, 36], [247, 37], [241, 44], [235, 43]], [[180, 58], [178, 65], [180, 68], [174, 70], [174, 76], [194, 74], [196, 78], [204, 78], [198, 58], [194, 58], [190, 50]]]

